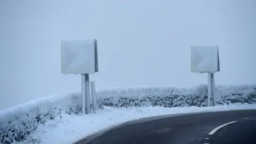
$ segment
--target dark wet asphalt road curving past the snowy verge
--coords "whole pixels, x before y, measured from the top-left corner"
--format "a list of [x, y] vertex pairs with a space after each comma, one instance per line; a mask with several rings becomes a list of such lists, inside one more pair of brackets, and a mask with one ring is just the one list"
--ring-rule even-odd
[[[75, 144], [256, 143], [256, 110], [236, 110], [130, 122]], [[144, 119], [145, 121], [145, 119]], [[235, 122], [234, 122], [235, 121]], [[209, 133], [223, 126], [214, 134]]]

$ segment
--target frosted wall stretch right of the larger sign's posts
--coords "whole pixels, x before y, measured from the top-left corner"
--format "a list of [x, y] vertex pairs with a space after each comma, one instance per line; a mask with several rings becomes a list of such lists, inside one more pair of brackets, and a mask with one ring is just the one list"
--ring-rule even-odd
[[[217, 104], [255, 103], [256, 84], [216, 86]], [[98, 91], [100, 103], [106, 106], [207, 106], [207, 85], [195, 87], [135, 87], [130, 89], [105, 89]]]

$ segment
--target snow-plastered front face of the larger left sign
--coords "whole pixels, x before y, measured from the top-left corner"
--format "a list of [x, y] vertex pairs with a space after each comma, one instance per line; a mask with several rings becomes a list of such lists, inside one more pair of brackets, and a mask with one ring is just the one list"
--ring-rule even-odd
[[61, 41], [61, 72], [93, 74], [95, 72], [94, 39]]

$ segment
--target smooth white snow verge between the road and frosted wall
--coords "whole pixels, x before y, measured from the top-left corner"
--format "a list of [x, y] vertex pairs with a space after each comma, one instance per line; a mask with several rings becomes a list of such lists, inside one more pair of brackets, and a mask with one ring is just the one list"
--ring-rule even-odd
[[[130, 107], [112, 108], [104, 107], [97, 114], [68, 115], [62, 114], [61, 118], [47, 121], [45, 125], [39, 125], [38, 129], [30, 135], [30, 138], [40, 140], [42, 144], [71, 144], [93, 133], [101, 132], [110, 127], [132, 121], [135, 119], [187, 113], [201, 113], [207, 111], [227, 111], [239, 109], [256, 109], [256, 105], [231, 104], [215, 107]], [[30, 139], [19, 142], [28, 143]], [[31, 140], [30, 140], [31, 141]]]

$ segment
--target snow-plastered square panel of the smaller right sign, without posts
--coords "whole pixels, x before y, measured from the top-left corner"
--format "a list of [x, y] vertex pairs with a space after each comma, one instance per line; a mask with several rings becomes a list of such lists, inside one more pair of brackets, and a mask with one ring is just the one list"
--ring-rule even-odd
[[218, 46], [191, 46], [191, 71], [215, 73], [218, 71]]

